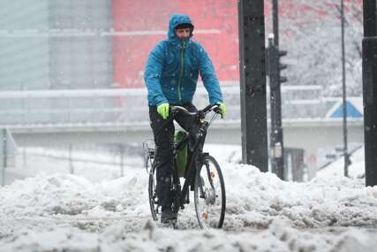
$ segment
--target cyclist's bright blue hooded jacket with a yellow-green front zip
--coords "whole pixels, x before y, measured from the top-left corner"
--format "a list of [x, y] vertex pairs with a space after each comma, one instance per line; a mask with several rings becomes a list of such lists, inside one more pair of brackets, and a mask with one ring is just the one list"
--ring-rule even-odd
[[199, 42], [182, 40], [175, 34], [175, 27], [186, 23], [192, 24], [187, 15], [173, 15], [168, 39], [158, 42], [149, 54], [144, 72], [149, 106], [191, 103], [199, 73], [207, 89], [209, 103], [222, 103], [222, 91], [207, 52]]

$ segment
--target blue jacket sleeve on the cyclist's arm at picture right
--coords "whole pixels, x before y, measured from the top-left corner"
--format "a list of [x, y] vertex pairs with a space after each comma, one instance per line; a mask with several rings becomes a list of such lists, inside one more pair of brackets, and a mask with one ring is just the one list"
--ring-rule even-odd
[[208, 57], [207, 51], [199, 45], [199, 71], [204, 87], [207, 89], [209, 103], [222, 103], [222, 90], [215, 74], [214, 65]]

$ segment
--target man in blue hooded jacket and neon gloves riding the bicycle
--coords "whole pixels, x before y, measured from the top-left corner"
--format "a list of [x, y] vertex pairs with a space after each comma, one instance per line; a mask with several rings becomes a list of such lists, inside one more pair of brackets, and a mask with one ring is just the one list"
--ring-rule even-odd
[[[222, 118], [225, 116], [225, 104], [214, 66], [200, 43], [191, 40], [193, 28], [192, 20], [187, 15], [173, 15], [170, 18], [168, 39], [158, 42], [150, 52], [144, 73], [149, 118], [156, 146], [156, 193], [159, 205], [162, 206], [162, 223], [177, 219], [177, 213], [171, 209], [175, 128], [173, 121], [166, 123], [166, 119], [171, 116], [170, 106], [179, 105], [188, 111], [197, 111], [192, 104], [192, 97], [200, 74], [208, 92], [209, 103], [219, 104]], [[194, 118], [177, 113], [175, 119], [185, 131], [195, 131]]]

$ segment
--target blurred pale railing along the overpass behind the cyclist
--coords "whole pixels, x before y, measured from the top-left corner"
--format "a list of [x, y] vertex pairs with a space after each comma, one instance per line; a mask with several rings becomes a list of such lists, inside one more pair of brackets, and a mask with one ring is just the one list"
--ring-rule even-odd
[[[239, 87], [224, 86], [222, 92], [227, 117], [216, 123], [238, 122]], [[341, 101], [341, 97], [323, 97], [317, 86], [283, 88], [282, 96], [283, 119], [327, 118], [328, 111]], [[198, 108], [207, 105], [204, 88], [198, 88], [193, 103]], [[0, 92], [2, 127], [137, 126], [148, 122], [146, 88]]]

